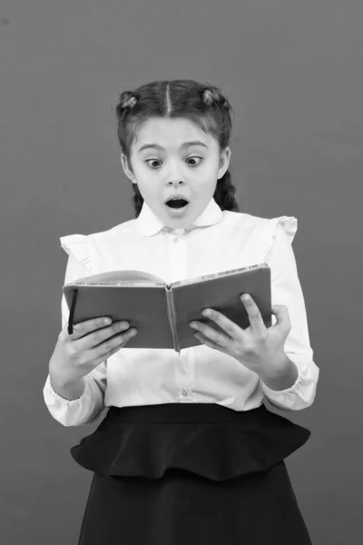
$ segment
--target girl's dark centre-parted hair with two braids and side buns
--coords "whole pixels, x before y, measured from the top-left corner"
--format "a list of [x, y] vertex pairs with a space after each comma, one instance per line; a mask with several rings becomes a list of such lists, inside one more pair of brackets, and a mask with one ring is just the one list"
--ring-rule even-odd
[[[116, 106], [117, 134], [121, 149], [130, 163], [131, 146], [137, 131], [151, 117], [184, 118], [212, 134], [225, 149], [231, 140], [231, 104], [220, 89], [194, 80], [162, 80], [124, 91]], [[142, 211], [143, 198], [132, 183], [135, 217]], [[213, 195], [221, 210], [239, 212], [236, 187], [227, 170], [217, 181]]]

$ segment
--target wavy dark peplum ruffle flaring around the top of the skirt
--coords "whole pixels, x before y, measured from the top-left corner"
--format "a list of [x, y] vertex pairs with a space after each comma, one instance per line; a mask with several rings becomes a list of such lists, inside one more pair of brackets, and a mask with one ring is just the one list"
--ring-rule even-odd
[[111, 408], [91, 435], [72, 447], [79, 465], [108, 477], [161, 478], [169, 469], [227, 481], [267, 471], [296, 451], [310, 431], [263, 405], [240, 421], [127, 422]]

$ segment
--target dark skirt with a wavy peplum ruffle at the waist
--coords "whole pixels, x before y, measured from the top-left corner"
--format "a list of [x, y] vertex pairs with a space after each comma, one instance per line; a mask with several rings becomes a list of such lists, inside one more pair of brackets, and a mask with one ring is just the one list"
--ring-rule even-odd
[[309, 435], [263, 404], [111, 407], [71, 449], [93, 471], [78, 545], [311, 545], [284, 462]]

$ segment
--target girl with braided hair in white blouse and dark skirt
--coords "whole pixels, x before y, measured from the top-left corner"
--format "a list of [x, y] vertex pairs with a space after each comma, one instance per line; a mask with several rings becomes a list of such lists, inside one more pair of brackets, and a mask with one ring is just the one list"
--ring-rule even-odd
[[157, 81], [121, 94], [116, 113], [136, 219], [62, 237], [64, 283], [121, 269], [175, 282], [265, 262], [273, 320], [266, 328], [241, 298], [249, 328], [211, 309], [208, 325], [191, 323], [198, 344], [178, 354], [132, 348], [127, 322], [69, 331], [62, 296], [45, 403], [64, 426], [108, 410], [71, 449], [93, 472], [78, 544], [311, 544], [284, 462], [310, 431], [263, 402], [305, 409], [319, 378], [291, 248], [297, 220], [239, 212], [231, 105], [218, 88]]

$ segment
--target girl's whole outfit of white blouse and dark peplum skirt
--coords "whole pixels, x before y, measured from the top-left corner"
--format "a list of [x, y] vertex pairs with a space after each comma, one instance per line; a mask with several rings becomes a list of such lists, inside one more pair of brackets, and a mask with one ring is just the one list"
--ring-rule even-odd
[[[78, 426], [105, 415], [71, 449], [93, 473], [78, 545], [311, 544], [284, 462], [310, 431], [265, 405], [305, 409], [319, 379], [291, 247], [296, 232], [295, 217], [221, 211], [211, 199], [188, 230], [163, 226], [143, 203], [137, 219], [61, 237], [64, 283], [122, 269], [176, 282], [268, 263], [272, 304], [289, 310], [284, 350], [299, 370], [290, 388], [274, 391], [203, 344], [180, 354], [126, 345], [84, 377], [76, 400], [56, 393], [48, 375], [44, 401], [55, 420]], [[63, 327], [68, 316], [62, 295]]]

